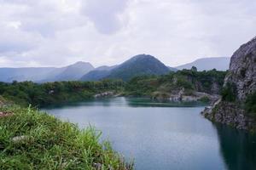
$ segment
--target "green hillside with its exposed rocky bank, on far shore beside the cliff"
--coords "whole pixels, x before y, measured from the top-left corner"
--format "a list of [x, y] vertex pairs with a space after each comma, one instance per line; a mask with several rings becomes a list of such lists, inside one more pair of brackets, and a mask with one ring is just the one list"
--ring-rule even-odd
[[126, 95], [177, 101], [214, 101], [224, 84], [226, 71], [183, 70], [161, 76], [134, 77]]

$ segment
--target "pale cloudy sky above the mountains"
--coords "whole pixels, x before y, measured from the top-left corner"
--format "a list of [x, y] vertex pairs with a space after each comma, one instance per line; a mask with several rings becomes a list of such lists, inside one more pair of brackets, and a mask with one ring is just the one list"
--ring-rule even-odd
[[255, 0], [0, 0], [0, 67], [176, 66], [230, 57], [256, 36]]

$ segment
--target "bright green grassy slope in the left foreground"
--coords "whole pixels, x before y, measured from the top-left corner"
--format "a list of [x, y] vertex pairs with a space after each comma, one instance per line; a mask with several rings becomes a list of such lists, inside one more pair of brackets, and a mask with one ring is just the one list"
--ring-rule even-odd
[[92, 127], [80, 130], [30, 107], [0, 111], [14, 114], [0, 117], [0, 169], [133, 169]]

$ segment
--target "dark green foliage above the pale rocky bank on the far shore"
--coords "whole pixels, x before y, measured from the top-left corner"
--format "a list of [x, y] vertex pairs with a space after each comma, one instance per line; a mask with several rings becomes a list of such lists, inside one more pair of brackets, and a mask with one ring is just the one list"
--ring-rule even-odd
[[133, 95], [145, 95], [159, 93], [170, 93], [173, 90], [185, 89], [189, 94], [191, 91], [205, 92], [208, 94], [218, 94], [224, 84], [226, 71], [196, 71], [196, 68], [183, 71], [171, 71], [169, 74], [161, 76], [134, 77], [127, 82], [125, 92]]

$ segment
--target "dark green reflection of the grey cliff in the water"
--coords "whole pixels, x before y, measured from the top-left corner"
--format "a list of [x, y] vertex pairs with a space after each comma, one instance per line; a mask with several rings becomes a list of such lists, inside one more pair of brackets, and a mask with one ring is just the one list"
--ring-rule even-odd
[[220, 151], [227, 169], [256, 169], [256, 135], [235, 130], [225, 125], [216, 125]]

